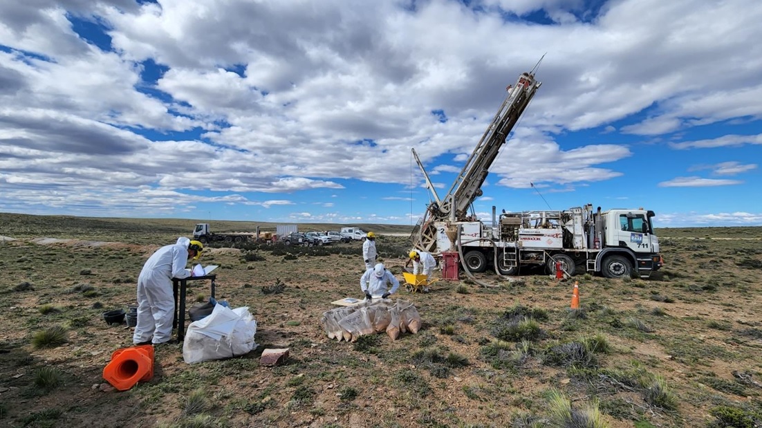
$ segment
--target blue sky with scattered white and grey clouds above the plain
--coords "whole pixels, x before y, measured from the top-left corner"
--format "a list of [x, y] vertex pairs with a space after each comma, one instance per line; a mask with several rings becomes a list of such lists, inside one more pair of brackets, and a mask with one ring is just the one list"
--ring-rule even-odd
[[546, 54], [479, 216], [762, 225], [760, 21], [757, 0], [3, 2], [0, 211], [411, 224], [410, 149], [443, 196]]

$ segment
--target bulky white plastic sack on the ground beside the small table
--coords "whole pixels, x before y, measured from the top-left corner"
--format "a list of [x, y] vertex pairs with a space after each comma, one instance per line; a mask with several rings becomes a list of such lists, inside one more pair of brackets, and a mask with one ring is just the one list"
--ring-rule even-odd
[[192, 364], [241, 356], [257, 347], [256, 333], [257, 321], [248, 307], [231, 309], [217, 304], [208, 317], [188, 326], [183, 359]]

